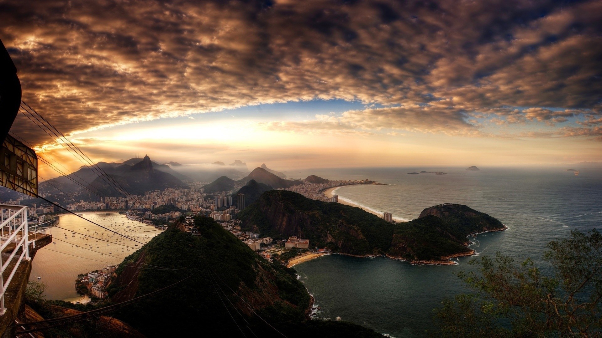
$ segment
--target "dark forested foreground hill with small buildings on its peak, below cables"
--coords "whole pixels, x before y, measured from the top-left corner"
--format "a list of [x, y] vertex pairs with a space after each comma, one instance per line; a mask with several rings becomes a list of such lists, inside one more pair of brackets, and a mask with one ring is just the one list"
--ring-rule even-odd
[[197, 217], [195, 225], [200, 236], [166, 230], [126, 257], [108, 286], [113, 301], [183, 281], [124, 307], [116, 318], [149, 337], [176, 331], [280, 336], [276, 330], [287, 337], [382, 337], [355, 324], [308, 320], [311, 297], [293, 269], [262, 259], [211, 218]]

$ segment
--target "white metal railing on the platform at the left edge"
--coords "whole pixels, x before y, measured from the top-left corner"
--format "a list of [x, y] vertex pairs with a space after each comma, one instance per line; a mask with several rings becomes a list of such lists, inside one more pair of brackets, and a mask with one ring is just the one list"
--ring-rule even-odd
[[[13, 279], [15, 272], [19, 268], [22, 260], [30, 260], [29, 258], [29, 241], [27, 229], [27, 207], [0, 204], [0, 252], [10, 254], [5, 262], [2, 262], [0, 255], [0, 316], [6, 312], [4, 307], [4, 293], [8, 289], [10, 281]], [[9, 245], [14, 244], [14, 248]], [[10, 271], [10, 275], [4, 281], [4, 274], [8, 273], [8, 265], [12, 262], [17, 252], [21, 251], [19, 258]]]

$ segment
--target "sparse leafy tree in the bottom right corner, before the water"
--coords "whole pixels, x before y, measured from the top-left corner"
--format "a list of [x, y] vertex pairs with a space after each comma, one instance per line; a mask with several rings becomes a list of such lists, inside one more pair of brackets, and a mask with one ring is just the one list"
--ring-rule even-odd
[[554, 275], [544, 276], [531, 259], [517, 264], [497, 253], [469, 264], [458, 276], [473, 293], [444, 300], [436, 310], [435, 336], [602, 335], [602, 234], [577, 230], [548, 243], [544, 259]]

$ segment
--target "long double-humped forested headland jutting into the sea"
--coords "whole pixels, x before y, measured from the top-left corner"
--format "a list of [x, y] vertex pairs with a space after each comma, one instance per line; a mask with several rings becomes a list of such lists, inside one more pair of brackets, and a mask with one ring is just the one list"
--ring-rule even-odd
[[431, 264], [451, 264], [452, 257], [473, 254], [466, 238], [472, 233], [506, 229], [495, 218], [460, 204], [440, 204], [423, 214], [414, 221], [392, 224], [358, 207], [272, 190], [237, 217], [261, 236], [299, 236], [309, 239], [311, 247]]

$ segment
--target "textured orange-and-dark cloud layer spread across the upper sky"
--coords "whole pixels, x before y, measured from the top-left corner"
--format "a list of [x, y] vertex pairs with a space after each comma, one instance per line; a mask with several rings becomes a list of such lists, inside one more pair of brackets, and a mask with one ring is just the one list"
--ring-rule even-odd
[[[63, 132], [338, 98], [384, 108], [264, 128], [478, 136], [479, 118], [573, 119], [556, 134], [600, 136], [596, 0], [6, 0], [0, 31], [23, 100]], [[23, 115], [13, 130], [48, 140]]]

